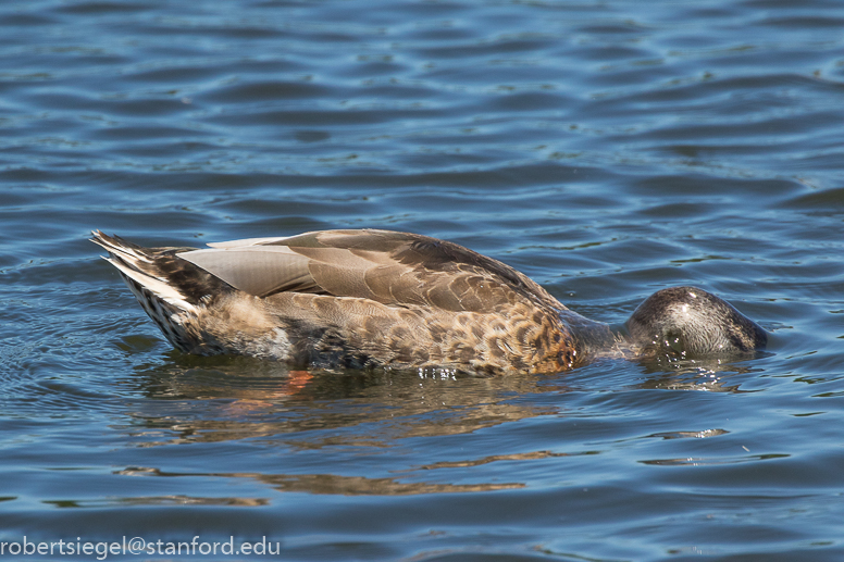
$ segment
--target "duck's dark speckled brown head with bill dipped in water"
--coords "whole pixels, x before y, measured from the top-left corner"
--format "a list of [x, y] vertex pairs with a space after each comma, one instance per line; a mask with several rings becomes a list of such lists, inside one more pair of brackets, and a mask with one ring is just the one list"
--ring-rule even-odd
[[651, 295], [626, 322], [630, 342], [643, 352], [683, 357], [737, 354], [765, 349], [768, 334], [729, 302], [696, 287]]

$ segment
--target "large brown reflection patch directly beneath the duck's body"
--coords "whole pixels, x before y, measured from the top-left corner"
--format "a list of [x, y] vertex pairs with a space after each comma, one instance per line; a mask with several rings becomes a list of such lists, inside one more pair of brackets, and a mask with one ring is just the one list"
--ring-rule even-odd
[[[497, 424], [556, 413], [549, 407], [513, 403], [513, 397], [564, 391], [562, 379], [479, 377], [388, 370], [312, 371], [303, 377], [249, 358], [210, 362], [183, 355], [140, 377], [150, 399], [122, 426], [144, 446], [273, 437], [308, 448], [335, 445], [384, 447], [396, 439], [472, 433]], [[257, 367], [257, 369], [253, 369]], [[263, 375], [263, 376], [261, 376]], [[539, 383], [543, 386], [539, 387]], [[158, 400], [169, 402], [162, 407]], [[151, 405], [145, 409], [145, 405]], [[157, 411], [163, 409], [164, 414]], [[179, 415], [179, 411], [184, 413]], [[360, 428], [332, 434], [332, 428]], [[307, 444], [299, 434], [325, 435]], [[170, 436], [164, 440], [164, 435]]]

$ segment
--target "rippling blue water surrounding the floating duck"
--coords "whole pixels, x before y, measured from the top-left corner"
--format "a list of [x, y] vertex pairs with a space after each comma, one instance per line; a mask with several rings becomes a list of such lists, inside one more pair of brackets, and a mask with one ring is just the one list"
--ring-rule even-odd
[[[823, 0], [3, 2], [0, 545], [841, 560], [843, 25]], [[297, 377], [173, 351], [86, 241], [364, 226], [605, 322], [696, 285], [769, 353]]]

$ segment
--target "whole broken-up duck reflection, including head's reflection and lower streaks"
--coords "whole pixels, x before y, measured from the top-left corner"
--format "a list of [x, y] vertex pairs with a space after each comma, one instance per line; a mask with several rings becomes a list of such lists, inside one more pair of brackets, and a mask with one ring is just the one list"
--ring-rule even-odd
[[[113, 425], [136, 447], [172, 447], [259, 439], [264, 445], [288, 451], [359, 448], [395, 450], [397, 444], [412, 439], [436, 441], [448, 436], [474, 434], [501, 424], [556, 416], [580, 415], [555, 401], [567, 392], [581, 391], [567, 384], [567, 375], [555, 376], [471, 376], [449, 373], [419, 373], [389, 370], [372, 371], [289, 371], [284, 365], [250, 358], [195, 358], [170, 352], [171, 359], [154, 370], [140, 371], [138, 390], [147, 400], [134, 403], [126, 413], [131, 421]], [[620, 362], [621, 360], [619, 360]], [[609, 362], [609, 361], [607, 361]], [[648, 389], [743, 392], [741, 384], [728, 384], [731, 377], [749, 375], [744, 364], [673, 362], [670, 370], [653, 362], [643, 380], [628, 384], [629, 391]], [[662, 371], [657, 371], [661, 366]], [[757, 370], [758, 372], [758, 370]], [[538, 398], [538, 403], [530, 400]], [[661, 439], [712, 438], [729, 434], [722, 428], [658, 432], [643, 437]], [[641, 437], [640, 437], [641, 438]], [[275, 472], [178, 472], [157, 466], [131, 466], [117, 475], [193, 478], [250, 478], [276, 491], [321, 495], [420, 495], [440, 492], [484, 492], [523, 488], [528, 482], [475, 480], [471, 484], [448, 482], [449, 471], [470, 470], [489, 464], [514, 465], [554, 461], [579, 455], [601, 454], [604, 448], [580, 450], [522, 450], [513, 453], [483, 454], [482, 450], [463, 453], [454, 460], [415, 462], [388, 469], [390, 476], [345, 475], [323, 472], [280, 474]], [[481, 454], [479, 454], [481, 453]], [[769, 457], [753, 455], [762, 460]], [[724, 458], [711, 461], [640, 460], [643, 464], [703, 464], [737, 462]], [[445, 471], [447, 474], [439, 472]], [[508, 471], [509, 472], [509, 471]], [[518, 474], [518, 471], [512, 472]], [[418, 482], [422, 478], [424, 482]], [[149, 498], [150, 502], [164, 501]], [[121, 500], [123, 501], [123, 500]], [[145, 501], [129, 498], [128, 501]], [[166, 500], [171, 501], [171, 500]], [[181, 501], [174, 499], [172, 501]], [[201, 502], [201, 498], [185, 501]], [[212, 502], [235, 501], [213, 498]], [[238, 504], [262, 504], [247, 498]], [[250, 503], [258, 502], [258, 503]], [[95, 502], [96, 503], [96, 502]]]

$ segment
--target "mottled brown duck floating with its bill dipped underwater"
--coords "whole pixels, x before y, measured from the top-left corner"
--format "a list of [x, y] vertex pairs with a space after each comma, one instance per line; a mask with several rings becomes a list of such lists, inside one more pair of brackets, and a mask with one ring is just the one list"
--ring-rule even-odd
[[764, 328], [704, 289], [658, 290], [620, 327], [569, 310], [513, 267], [457, 243], [381, 229], [145, 248], [92, 232], [179, 351], [290, 369], [557, 373], [610, 354], [724, 357]]

